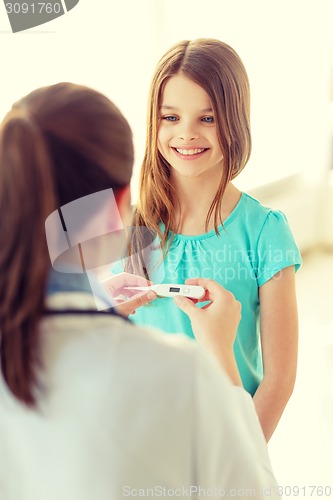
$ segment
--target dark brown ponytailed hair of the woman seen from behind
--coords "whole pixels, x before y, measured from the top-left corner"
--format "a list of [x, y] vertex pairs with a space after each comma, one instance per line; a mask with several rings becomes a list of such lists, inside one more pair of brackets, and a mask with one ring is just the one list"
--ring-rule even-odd
[[0, 126], [0, 355], [10, 391], [38, 388], [39, 322], [51, 267], [45, 220], [83, 196], [129, 185], [130, 127], [99, 92], [59, 83], [16, 102]]

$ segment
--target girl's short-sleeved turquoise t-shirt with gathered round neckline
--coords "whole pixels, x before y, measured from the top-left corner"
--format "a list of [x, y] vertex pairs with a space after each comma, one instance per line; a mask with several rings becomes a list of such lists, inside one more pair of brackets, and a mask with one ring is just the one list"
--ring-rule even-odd
[[[285, 215], [245, 193], [219, 232], [175, 234], [164, 261], [160, 261], [160, 249], [156, 248], [146, 267], [154, 283], [181, 284], [187, 278], [210, 278], [241, 302], [242, 319], [234, 352], [243, 385], [253, 395], [263, 376], [258, 288], [285, 267], [294, 265], [297, 271], [302, 259]], [[130, 318], [170, 334], [183, 332], [194, 337], [188, 316], [170, 298], [157, 298]]]

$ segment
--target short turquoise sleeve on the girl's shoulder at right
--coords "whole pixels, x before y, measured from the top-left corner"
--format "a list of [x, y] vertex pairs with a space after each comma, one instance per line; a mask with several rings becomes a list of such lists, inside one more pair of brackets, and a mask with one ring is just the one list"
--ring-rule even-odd
[[261, 229], [257, 244], [258, 287], [285, 267], [302, 264], [302, 257], [283, 212], [270, 210]]

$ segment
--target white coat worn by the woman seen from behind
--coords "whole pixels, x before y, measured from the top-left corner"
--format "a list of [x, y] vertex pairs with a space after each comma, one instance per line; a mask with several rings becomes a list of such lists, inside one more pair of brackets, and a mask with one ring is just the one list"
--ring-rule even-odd
[[36, 409], [0, 382], [1, 500], [278, 497], [251, 397], [196, 342], [116, 316], [52, 316], [41, 361]]

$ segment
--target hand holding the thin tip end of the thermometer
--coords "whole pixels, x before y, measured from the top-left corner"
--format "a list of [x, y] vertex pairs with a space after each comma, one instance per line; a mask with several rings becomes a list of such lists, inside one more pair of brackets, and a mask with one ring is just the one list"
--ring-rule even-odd
[[136, 276], [130, 273], [120, 273], [111, 275], [110, 277], [100, 281], [105, 290], [112, 296], [117, 306], [115, 309], [123, 316], [135, 314], [138, 307], [144, 306], [156, 298], [156, 293], [148, 292], [135, 292], [135, 290], [127, 290], [125, 286], [148, 286], [151, 281]]

